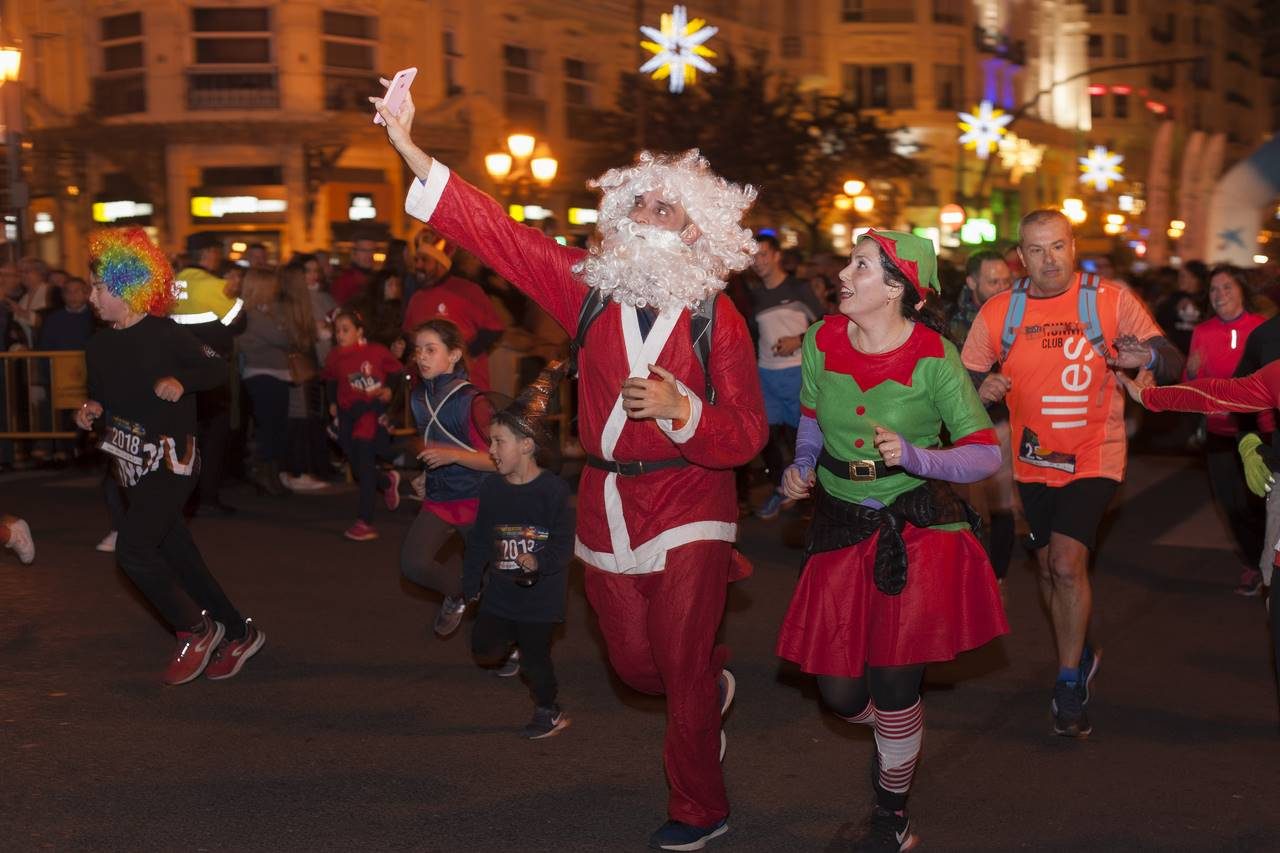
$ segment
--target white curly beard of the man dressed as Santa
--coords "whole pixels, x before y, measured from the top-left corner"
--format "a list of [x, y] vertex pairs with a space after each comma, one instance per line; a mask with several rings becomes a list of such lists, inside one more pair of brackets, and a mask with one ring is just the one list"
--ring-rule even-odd
[[691, 309], [724, 289], [714, 259], [704, 257], [696, 242], [686, 246], [677, 232], [630, 219], [603, 232], [600, 245], [573, 272], [614, 302]]

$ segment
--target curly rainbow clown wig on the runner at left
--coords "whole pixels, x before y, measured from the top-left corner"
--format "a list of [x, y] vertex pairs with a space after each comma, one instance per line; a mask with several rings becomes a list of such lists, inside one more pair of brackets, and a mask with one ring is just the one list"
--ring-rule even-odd
[[165, 316], [177, 296], [173, 266], [141, 228], [104, 228], [88, 238], [95, 278], [129, 310]]

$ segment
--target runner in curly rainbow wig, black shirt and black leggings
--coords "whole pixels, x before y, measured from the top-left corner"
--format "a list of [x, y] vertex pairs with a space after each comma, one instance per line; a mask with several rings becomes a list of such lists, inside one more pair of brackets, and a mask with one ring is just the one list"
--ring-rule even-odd
[[227, 598], [182, 517], [200, 467], [193, 394], [227, 382], [225, 362], [166, 318], [173, 268], [141, 228], [95, 232], [90, 269], [90, 301], [109, 328], [86, 347], [90, 400], [76, 423], [100, 423], [125, 492], [116, 561], [178, 637], [165, 684], [230, 678], [266, 634]]

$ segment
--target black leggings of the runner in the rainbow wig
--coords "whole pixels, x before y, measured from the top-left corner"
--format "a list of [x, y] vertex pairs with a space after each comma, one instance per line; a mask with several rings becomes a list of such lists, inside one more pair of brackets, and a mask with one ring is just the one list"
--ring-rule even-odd
[[177, 631], [201, 622], [200, 612], [244, 637], [244, 619], [218, 585], [182, 519], [195, 478], [161, 467], [125, 489], [128, 508], [115, 543], [115, 560], [147, 601]]

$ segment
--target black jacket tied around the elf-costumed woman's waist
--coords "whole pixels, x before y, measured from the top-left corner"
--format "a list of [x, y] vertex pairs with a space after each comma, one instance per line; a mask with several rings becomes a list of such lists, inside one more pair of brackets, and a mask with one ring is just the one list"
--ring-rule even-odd
[[805, 561], [815, 553], [838, 551], [855, 546], [873, 533], [876, 540], [876, 588], [886, 596], [896, 596], [906, 587], [906, 543], [902, 526], [908, 523], [918, 528], [966, 521], [974, 534], [982, 528], [982, 519], [960, 500], [950, 483], [925, 480], [910, 492], [904, 492], [883, 510], [849, 503], [818, 489], [813, 524]]

